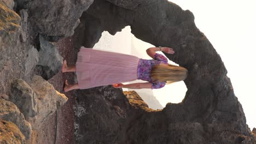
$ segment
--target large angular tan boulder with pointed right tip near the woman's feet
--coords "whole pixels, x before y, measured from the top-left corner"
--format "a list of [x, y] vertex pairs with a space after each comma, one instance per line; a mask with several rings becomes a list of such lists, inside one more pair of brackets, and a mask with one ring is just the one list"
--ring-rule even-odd
[[66, 103], [67, 97], [57, 92], [42, 77], [35, 75], [31, 87], [23, 80], [15, 80], [10, 100], [24, 113], [32, 129], [39, 130], [42, 123]]

